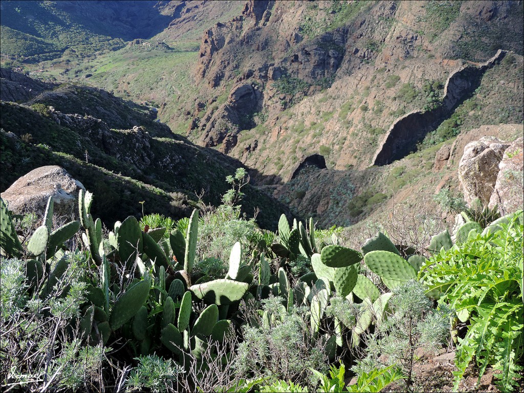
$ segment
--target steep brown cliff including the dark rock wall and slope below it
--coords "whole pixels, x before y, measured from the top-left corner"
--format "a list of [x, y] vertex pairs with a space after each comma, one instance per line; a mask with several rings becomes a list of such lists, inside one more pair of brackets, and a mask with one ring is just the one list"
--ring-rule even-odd
[[[205, 32], [195, 79], [227, 99], [196, 103], [189, 135], [256, 169], [297, 213], [352, 221], [352, 199], [403, 184], [367, 168], [404, 166], [443, 121], [458, 122], [453, 133], [522, 122], [522, 3], [259, 3]], [[499, 49], [513, 51], [504, 65]], [[235, 91], [249, 92], [241, 111]], [[298, 170], [313, 155], [326, 168]]]

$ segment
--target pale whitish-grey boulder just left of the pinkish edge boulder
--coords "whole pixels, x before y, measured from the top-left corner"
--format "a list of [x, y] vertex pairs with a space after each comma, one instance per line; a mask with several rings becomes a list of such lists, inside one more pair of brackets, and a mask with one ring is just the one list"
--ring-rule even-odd
[[487, 205], [495, 189], [499, 163], [509, 144], [484, 137], [466, 146], [459, 162], [459, 180], [467, 203], [475, 199]]

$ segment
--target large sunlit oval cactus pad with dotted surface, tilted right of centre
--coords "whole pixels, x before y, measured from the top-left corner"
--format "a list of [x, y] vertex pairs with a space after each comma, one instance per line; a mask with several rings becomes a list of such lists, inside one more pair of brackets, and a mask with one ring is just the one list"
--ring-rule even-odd
[[364, 256], [364, 261], [381, 278], [408, 281], [417, 277], [417, 272], [406, 259], [388, 251], [369, 252]]

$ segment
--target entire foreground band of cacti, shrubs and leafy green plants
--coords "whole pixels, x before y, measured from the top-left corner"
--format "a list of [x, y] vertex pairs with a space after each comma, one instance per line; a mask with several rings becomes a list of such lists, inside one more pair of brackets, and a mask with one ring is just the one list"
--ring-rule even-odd
[[418, 364], [451, 346], [455, 389], [466, 369], [518, 389], [522, 211], [461, 212], [423, 247], [379, 232], [352, 249], [313, 220], [260, 230], [240, 213], [246, 176], [201, 216], [112, 228], [89, 192], [69, 223], [52, 199], [43, 217], [2, 201], [2, 388], [431, 391]]

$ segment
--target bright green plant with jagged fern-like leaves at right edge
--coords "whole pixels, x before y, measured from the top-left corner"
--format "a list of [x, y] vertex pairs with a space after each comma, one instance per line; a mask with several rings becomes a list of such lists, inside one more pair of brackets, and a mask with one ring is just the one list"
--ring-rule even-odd
[[455, 355], [459, 368], [454, 373], [455, 390], [473, 359], [479, 367], [479, 380], [486, 367], [492, 366], [501, 372], [495, 376], [502, 390], [518, 386], [524, 341], [523, 226], [519, 213], [498, 228], [493, 233], [476, 233], [447, 251], [442, 249], [420, 270], [429, 290], [440, 294], [439, 303], [455, 309], [458, 320], [470, 322]]

